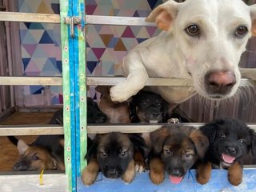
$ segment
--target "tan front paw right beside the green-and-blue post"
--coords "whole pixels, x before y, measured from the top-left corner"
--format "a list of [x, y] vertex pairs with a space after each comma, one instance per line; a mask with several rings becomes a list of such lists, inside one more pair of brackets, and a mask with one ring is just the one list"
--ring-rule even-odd
[[90, 186], [96, 181], [99, 171], [99, 165], [95, 158], [92, 158], [86, 168], [82, 171], [81, 179], [83, 184]]

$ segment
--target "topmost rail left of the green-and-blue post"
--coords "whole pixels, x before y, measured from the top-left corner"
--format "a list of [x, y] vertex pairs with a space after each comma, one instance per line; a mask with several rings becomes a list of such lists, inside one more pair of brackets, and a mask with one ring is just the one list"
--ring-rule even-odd
[[33, 14], [0, 11], [0, 21], [60, 23], [61, 18], [59, 14]]

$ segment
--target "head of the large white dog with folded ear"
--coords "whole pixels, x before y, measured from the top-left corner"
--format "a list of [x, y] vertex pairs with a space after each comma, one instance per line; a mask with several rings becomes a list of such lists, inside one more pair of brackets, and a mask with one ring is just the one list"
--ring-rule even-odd
[[242, 0], [170, 0], [146, 21], [156, 22], [175, 39], [198, 94], [212, 99], [234, 95], [241, 54], [256, 35], [256, 5]]

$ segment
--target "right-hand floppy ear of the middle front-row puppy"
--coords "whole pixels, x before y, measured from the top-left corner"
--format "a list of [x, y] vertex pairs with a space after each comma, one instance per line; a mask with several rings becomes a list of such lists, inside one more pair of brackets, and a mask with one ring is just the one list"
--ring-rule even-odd
[[190, 139], [194, 142], [194, 147], [199, 158], [203, 159], [209, 147], [208, 138], [200, 130], [192, 130]]

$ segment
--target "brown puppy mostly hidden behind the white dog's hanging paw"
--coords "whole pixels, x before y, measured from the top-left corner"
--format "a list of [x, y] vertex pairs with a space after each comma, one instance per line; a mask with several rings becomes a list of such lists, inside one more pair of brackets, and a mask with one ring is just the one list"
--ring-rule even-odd
[[102, 94], [101, 101], [98, 103], [99, 109], [106, 114], [110, 123], [129, 123], [128, 102], [112, 102], [110, 98], [110, 86], [97, 86], [96, 89]]

